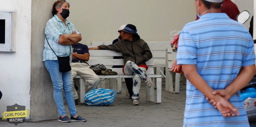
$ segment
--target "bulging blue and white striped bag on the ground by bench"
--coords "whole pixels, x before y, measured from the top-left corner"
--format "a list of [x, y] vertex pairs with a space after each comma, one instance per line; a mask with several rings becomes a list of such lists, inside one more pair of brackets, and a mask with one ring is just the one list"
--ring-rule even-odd
[[114, 102], [116, 91], [111, 89], [94, 89], [85, 94], [85, 103], [89, 106], [104, 106]]

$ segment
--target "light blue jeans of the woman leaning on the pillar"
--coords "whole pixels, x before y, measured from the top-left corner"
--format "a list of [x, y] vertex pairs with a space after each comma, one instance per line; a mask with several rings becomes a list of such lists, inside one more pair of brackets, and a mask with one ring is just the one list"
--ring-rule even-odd
[[65, 99], [68, 105], [70, 116], [77, 115], [74, 95], [72, 92], [71, 71], [62, 73], [59, 71], [58, 60], [46, 60], [44, 65], [50, 73], [53, 84], [53, 96], [60, 116], [66, 115], [62, 92], [64, 90]]

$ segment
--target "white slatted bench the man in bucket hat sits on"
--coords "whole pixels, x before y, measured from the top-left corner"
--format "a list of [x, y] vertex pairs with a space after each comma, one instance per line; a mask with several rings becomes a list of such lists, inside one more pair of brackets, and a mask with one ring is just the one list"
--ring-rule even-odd
[[[98, 75], [101, 79], [101, 88], [105, 88], [105, 78], [110, 79], [110, 88], [117, 88], [117, 91], [121, 90], [121, 78], [133, 78], [133, 75], [124, 75], [122, 68], [112, 68], [113, 65], [124, 65], [123, 59], [113, 59], [114, 56], [122, 56], [121, 53], [117, 53], [111, 50], [89, 50], [90, 59], [88, 61], [89, 65], [95, 64], [104, 64], [108, 69], [112, 69], [116, 71], [118, 75]], [[109, 58], [111, 57], [111, 58]], [[150, 59], [146, 62], [148, 65], [148, 70], [146, 74], [148, 77], [152, 78], [152, 82], [154, 83], [156, 78], [156, 99], [155, 99], [155, 90], [154, 87], [148, 88], [146, 85], [146, 101], [161, 103], [161, 89], [162, 89], [162, 78], [161, 75], [154, 74], [154, 59]], [[80, 76], [76, 78], [80, 78], [80, 103], [85, 103], [85, 81]], [[116, 78], [120, 80], [116, 83]]]

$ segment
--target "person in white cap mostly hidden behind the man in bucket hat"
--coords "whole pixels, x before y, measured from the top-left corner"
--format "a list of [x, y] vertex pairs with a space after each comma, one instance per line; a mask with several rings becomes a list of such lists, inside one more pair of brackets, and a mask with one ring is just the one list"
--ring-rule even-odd
[[[113, 40], [112, 42], [112, 45], [115, 44], [116, 42], [118, 42], [119, 40], [122, 39], [121, 37], [121, 31], [124, 29], [126, 25], [122, 25], [120, 26], [119, 30], [117, 32], [119, 32], [119, 36], [117, 39]], [[123, 57], [118, 57], [118, 56], [115, 56], [114, 59], [122, 59]], [[112, 68], [122, 68], [123, 66], [113, 66]], [[128, 93], [129, 93], [129, 99], [132, 99], [132, 84], [133, 84], [133, 80], [132, 78], [124, 78], [125, 80], [125, 84], [126, 84], [126, 87], [127, 87], [127, 90], [128, 90]]]

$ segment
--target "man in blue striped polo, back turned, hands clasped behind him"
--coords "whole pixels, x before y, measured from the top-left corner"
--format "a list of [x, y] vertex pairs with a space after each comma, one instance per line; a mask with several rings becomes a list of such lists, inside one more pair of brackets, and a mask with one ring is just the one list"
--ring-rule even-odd
[[251, 35], [220, 13], [223, 0], [194, 1], [200, 19], [182, 29], [177, 53], [177, 64], [188, 79], [183, 126], [249, 127], [240, 89], [256, 73]]

